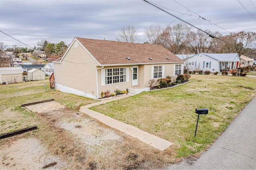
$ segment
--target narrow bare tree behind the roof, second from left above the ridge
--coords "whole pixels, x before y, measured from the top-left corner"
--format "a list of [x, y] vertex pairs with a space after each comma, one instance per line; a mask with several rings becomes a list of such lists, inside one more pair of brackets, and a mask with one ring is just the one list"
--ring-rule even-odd
[[144, 34], [148, 38], [150, 44], [162, 44], [160, 40], [160, 35], [162, 33], [162, 28], [160, 25], [154, 26], [150, 25], [149, 27], [145, 27]]

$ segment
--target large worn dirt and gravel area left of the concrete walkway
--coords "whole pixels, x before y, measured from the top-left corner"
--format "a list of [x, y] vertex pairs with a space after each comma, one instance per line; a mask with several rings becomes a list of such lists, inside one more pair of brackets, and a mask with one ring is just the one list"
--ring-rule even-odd
[[37, 130], [0, 141], [4, 169], [162, 169], [177, 160], [171, 148], [155, 149], [79, 111], [35, 115]]

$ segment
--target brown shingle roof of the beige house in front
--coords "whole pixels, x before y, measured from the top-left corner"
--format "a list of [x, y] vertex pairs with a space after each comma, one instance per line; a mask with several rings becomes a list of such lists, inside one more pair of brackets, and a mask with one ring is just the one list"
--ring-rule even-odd
[[[79, 37], [76, 37], [76, 39], [102, 65], [172, 62], [183, 63], [182, 59], [161, 45], [126, 43]], [[130, 60], [126, 59], [126, 57], [129, 57]], [[152, 58], [152, 60], [149, 58]], [[166, 58], [169, 58], [169, 60]]]

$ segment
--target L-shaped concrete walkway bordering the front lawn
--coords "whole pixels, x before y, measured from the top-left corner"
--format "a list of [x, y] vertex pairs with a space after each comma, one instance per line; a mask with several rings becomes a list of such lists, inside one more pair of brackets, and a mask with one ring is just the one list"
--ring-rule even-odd
[[147, 144], [151, 145], [152, 147], [155, 147], [159, 150], [165, 150], [168, 147], [170, 147], [170, 145], [172, 145], [172, 143], [170, 143], [169, 141], [167, 141], [165, 139], [161, 139], [160, 137], [156, 137], [156, 136], [154, 136], [150, 133], [144, 132], [136, 127], [133, 127], [131, 125], [128, 125], [128, 124], [120, 122], [120, 121], [117, 121], [115, 119], [112, 119], [111, 117], [104, 115], [104, 114], [101, 114], [96, 111], [88, 109], [89, 107], [92, 107], [92, 106], [97, 106], [100, 104], [112, 102], [114, 100], [120, 100], [120, 99], [127, 98], [127, 97], [130, 97], [130, 95], [124, 95], [124, 96], [120, 96], [120, 97], [118, 96], [116, 98], [112, 98], [109, 100], [102, 100], [100, 102], [89, 104], [87, 106], [82, 106], [82, 107], [80, 107], [80, 111], [83, 113], [86, 113], [87, 115], [89, 115], [91, 117], [94, 117], [95, 119], [98, 119], [100, 122], [102, 122], [112, 128], [115, 128], [119, 131], [126, 133], [127, 135], [136, 137], [136, 138], [140, 139], [140, 141], [147, 143]]

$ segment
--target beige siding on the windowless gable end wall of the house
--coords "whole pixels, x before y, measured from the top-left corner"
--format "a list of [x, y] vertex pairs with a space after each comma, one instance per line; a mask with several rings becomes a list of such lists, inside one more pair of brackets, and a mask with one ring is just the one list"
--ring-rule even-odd
[[96, 65], [98, 63], [79, 43], [77, 48], [74, 44], [61, 64], [55, 63], [56, 83], [96, 95]]

